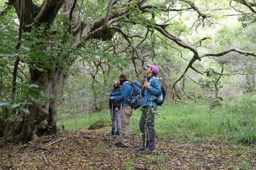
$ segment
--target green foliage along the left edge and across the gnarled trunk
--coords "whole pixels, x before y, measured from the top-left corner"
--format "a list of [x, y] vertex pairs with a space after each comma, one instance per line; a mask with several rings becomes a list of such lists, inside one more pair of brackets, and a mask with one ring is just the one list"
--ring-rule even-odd
[[[19, 51], [15, 49], [17, 45], [17, 35], [19, 25], [15, 20], [15, 9], [8, 10], [0, 17], [0, 26], [4, 32], [0, 32], [0, 118], [3, 121], [21, 121], [21, 117], [30, 114], [28, 105], [35, 104], [44, 106], [53, 96], [38, 89], [38, 85], [31, 84], [29, 81], [30, 69], [39, 72], [48, 72], [58, 67], [67, 67], [66, 61], [62, 56], [70, 54], [70, 45], [73, 38], [69, 39], [71, 43], [63, 43], [66, 36], [66, 27], [60, 26], [64, 20], [62, 15], [57, 17], [55, 24], [49, 30], [45, 30], [45, 25], [39, 25], [38, 29], [32, 32], [23, 32], [23, 38]], [[30, 25], [30, 26], [33, 26]], [[53, 34], [53, 32], [56, 32]], [[18, 53], [18, 54], [17, 54]], [[8, 56], [8, 54], [17, 54]], [[20, 56], [19, 56], [20, 54]], [[61, 54], [61, 55], [60, 55]], [[13, 94], [13, 65], [19, 57], [19, 67], [17, 72], [17, 83], [15, 85], [15, 94]]]

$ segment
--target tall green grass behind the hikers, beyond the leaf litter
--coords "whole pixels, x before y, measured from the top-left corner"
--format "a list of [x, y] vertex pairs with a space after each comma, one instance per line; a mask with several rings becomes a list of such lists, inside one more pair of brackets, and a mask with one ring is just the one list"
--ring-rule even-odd
[[[139, 132], [140, 109], [131, 116], [131, 130]], [[172, 103], [158, 107], [156, 134], [167, 140], [182, 142], [203, 142], [222, 140], [245, 145], [256, 142], [256, 95], [235, 98], [221, 102], [221, 106], [211, 108], [208, 103], [188, 101], [188, 103]], [[109, 111], [93, 114], [90, 123], [97, 120], [110, 120]], [[89, 116], [64, 120], [66, 129], [82, 129], [89, 127]]]

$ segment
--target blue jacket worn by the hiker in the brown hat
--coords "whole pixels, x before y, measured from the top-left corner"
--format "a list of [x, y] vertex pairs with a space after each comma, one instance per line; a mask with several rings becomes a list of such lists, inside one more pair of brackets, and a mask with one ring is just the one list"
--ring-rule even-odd
[[110, 96], [113, 96], [113, 102], [122, 102], [122, 106], [130, 105], [128, 99], [131, 99], [131, 85], [129, 81], [125, 81], [121, 91], [111, 93]]

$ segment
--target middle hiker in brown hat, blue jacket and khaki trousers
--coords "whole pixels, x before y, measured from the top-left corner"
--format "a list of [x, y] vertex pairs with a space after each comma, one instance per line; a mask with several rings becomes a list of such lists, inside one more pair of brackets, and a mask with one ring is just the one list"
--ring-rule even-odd
[[131, 128], [130, 119], [132, 114], [132, 107], [129, 103], [131, 99], [131, 85], [125, 74], [119, 76], [120, 85], [122, 85], [122, 90], [120, 92], [111, 93], [111, 100], [113, 102], [122, 102], [121, 105], [121, 131], [120, 140], [115, 143], [116, 147], [130, 147], [131, 140]]

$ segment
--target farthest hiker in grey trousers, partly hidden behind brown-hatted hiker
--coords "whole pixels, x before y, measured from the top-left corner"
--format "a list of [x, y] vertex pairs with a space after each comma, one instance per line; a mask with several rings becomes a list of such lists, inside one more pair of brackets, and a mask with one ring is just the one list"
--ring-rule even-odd
[[[113, 90], [111, 93], [116, 93], [121, 91], [121, 85], [118, 78], [115, 79], [113, 83]], [[109, 136], [114, 136], [115, 138], [119, 138], [120, 136], [120, 129], [121, 129], [121, 103], [114, 102], [113, 100], [109, 99], [109, 107], [110, 107], [110, 115], [111, 115], [111, 134]], [[116, 133], [115, 133], [116, 130]]]

